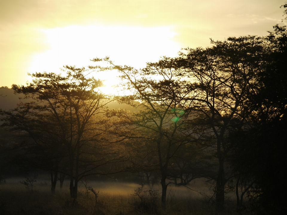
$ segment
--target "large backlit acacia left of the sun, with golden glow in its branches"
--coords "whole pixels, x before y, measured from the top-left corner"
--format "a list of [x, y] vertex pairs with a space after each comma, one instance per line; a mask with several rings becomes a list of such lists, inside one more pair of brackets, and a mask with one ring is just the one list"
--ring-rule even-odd
[[[100, 80], [88, 78], [84, 67], [65, 66], [67, 76], [55, 73], [34, 73], [33, 81], [27, 86], [13, 85], [16, 93], [23, 93], [33, 110], [53, 127], [57, 142], [65, 150], [70, 176], [71, 198], [77, 198], [79, 180], [95, 169], [118, 161], [112, 150], [106, 150], [97, 137], [103, 133], [100, 113], [109, 102], [98, 90]], [[41, 115], [39, 115], [39, 113]], [[58, 171], [58, 170], [55, 170]], [[57, 179], [57, 176], [56, 176]]]

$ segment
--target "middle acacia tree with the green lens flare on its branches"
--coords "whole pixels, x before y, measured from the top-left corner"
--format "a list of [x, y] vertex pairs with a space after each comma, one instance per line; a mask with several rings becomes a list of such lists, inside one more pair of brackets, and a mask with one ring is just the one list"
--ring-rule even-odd
[[[121, 73], [123, 86], [131, 92], [130, 96], [123, 96], [120, 102], [134, 105], [138, 112], [120, 112], [120, 118], [126, 121], [122, 124], [123, 130], [120, 135], [123, 139], [129, 139], [131, 147], [145, 148], [144, 157], [156, 153], [156, 162], [152, 167], [161, 173], [162, 207], [166, 207], [166, 192], [168, 176], [171, 176], [170, 160], [175, 157], [177, 151], [186, 144], [191, 144], [196, 139], [193, 129], [186, 126], [191, 121], [192, 102], [184, 100], [188, 94], [186, 81], [179, 76], [179, 70], [174, 67], [173, 59], [164, 58], [157, 63], [149, 63], [142, 70], [132, 67], [121, 67], [114, 65], [109, 58], [94, 59], [94, 62], [106, 61], [108, 67], [101, 67], [103, 70], [116, 69]], [[99, 67], [97, 67], [99, 68]], [[180, 98], [180, 99], [179, 99]], [[142, 141], [138, 141], [142, 139]], [[143, 155], [143, 154], [141, 154]], [[145, 166], [142, 160], [132, 162], [136, 166]]]

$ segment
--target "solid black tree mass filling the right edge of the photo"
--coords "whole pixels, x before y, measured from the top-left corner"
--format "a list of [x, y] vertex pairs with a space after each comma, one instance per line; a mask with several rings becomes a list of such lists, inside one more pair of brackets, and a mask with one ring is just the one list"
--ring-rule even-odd
[[268, 61], [257, 76], [257, 93], [249, 97], [249, 117], [230, 132], [232, 168], [247, 191], [250, 209], [260, 214], [285, 214], [287, 33], [274, 26], [265, 38]]

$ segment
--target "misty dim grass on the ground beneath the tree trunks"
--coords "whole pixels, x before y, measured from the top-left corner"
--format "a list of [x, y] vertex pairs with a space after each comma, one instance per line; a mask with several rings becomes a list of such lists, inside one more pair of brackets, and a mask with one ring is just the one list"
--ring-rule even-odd
[[[56, 188], [56, 195], [51, 193], [48, 180], [38, 180], [33, 192], [28, 191], [19, 181], [8, 179], [0, 185], [0, 214], [7, 215], [132, 215], [143, 214], [135, 208], [140, 200], [131, 194], [139, 187], [134, 183], [123, 182], [91, 182], [88, 185], [100, 191], [97, 203], [93, 193], [86, 195], [83, 185], [79, 187], [77, 204], [70, 200], [68, 183]], [[59, 186], [59, 185], [58, 185]], [[190, 185], [191, 188], [203, 186], [201, 182]], [[160, 187], [155, 185], [154, 190]], [[160, 196], [159, 196], [160, 197]], [[200, 194], [184, 187], [170, 186], [167, 191], [167, 209], [161, 209], [160, 198], [157, 201], [158, 214], [214, 214], [214, 207], [203, 201]], [[221, 214], [236, 214], [235, 202], [225, 207]]]

